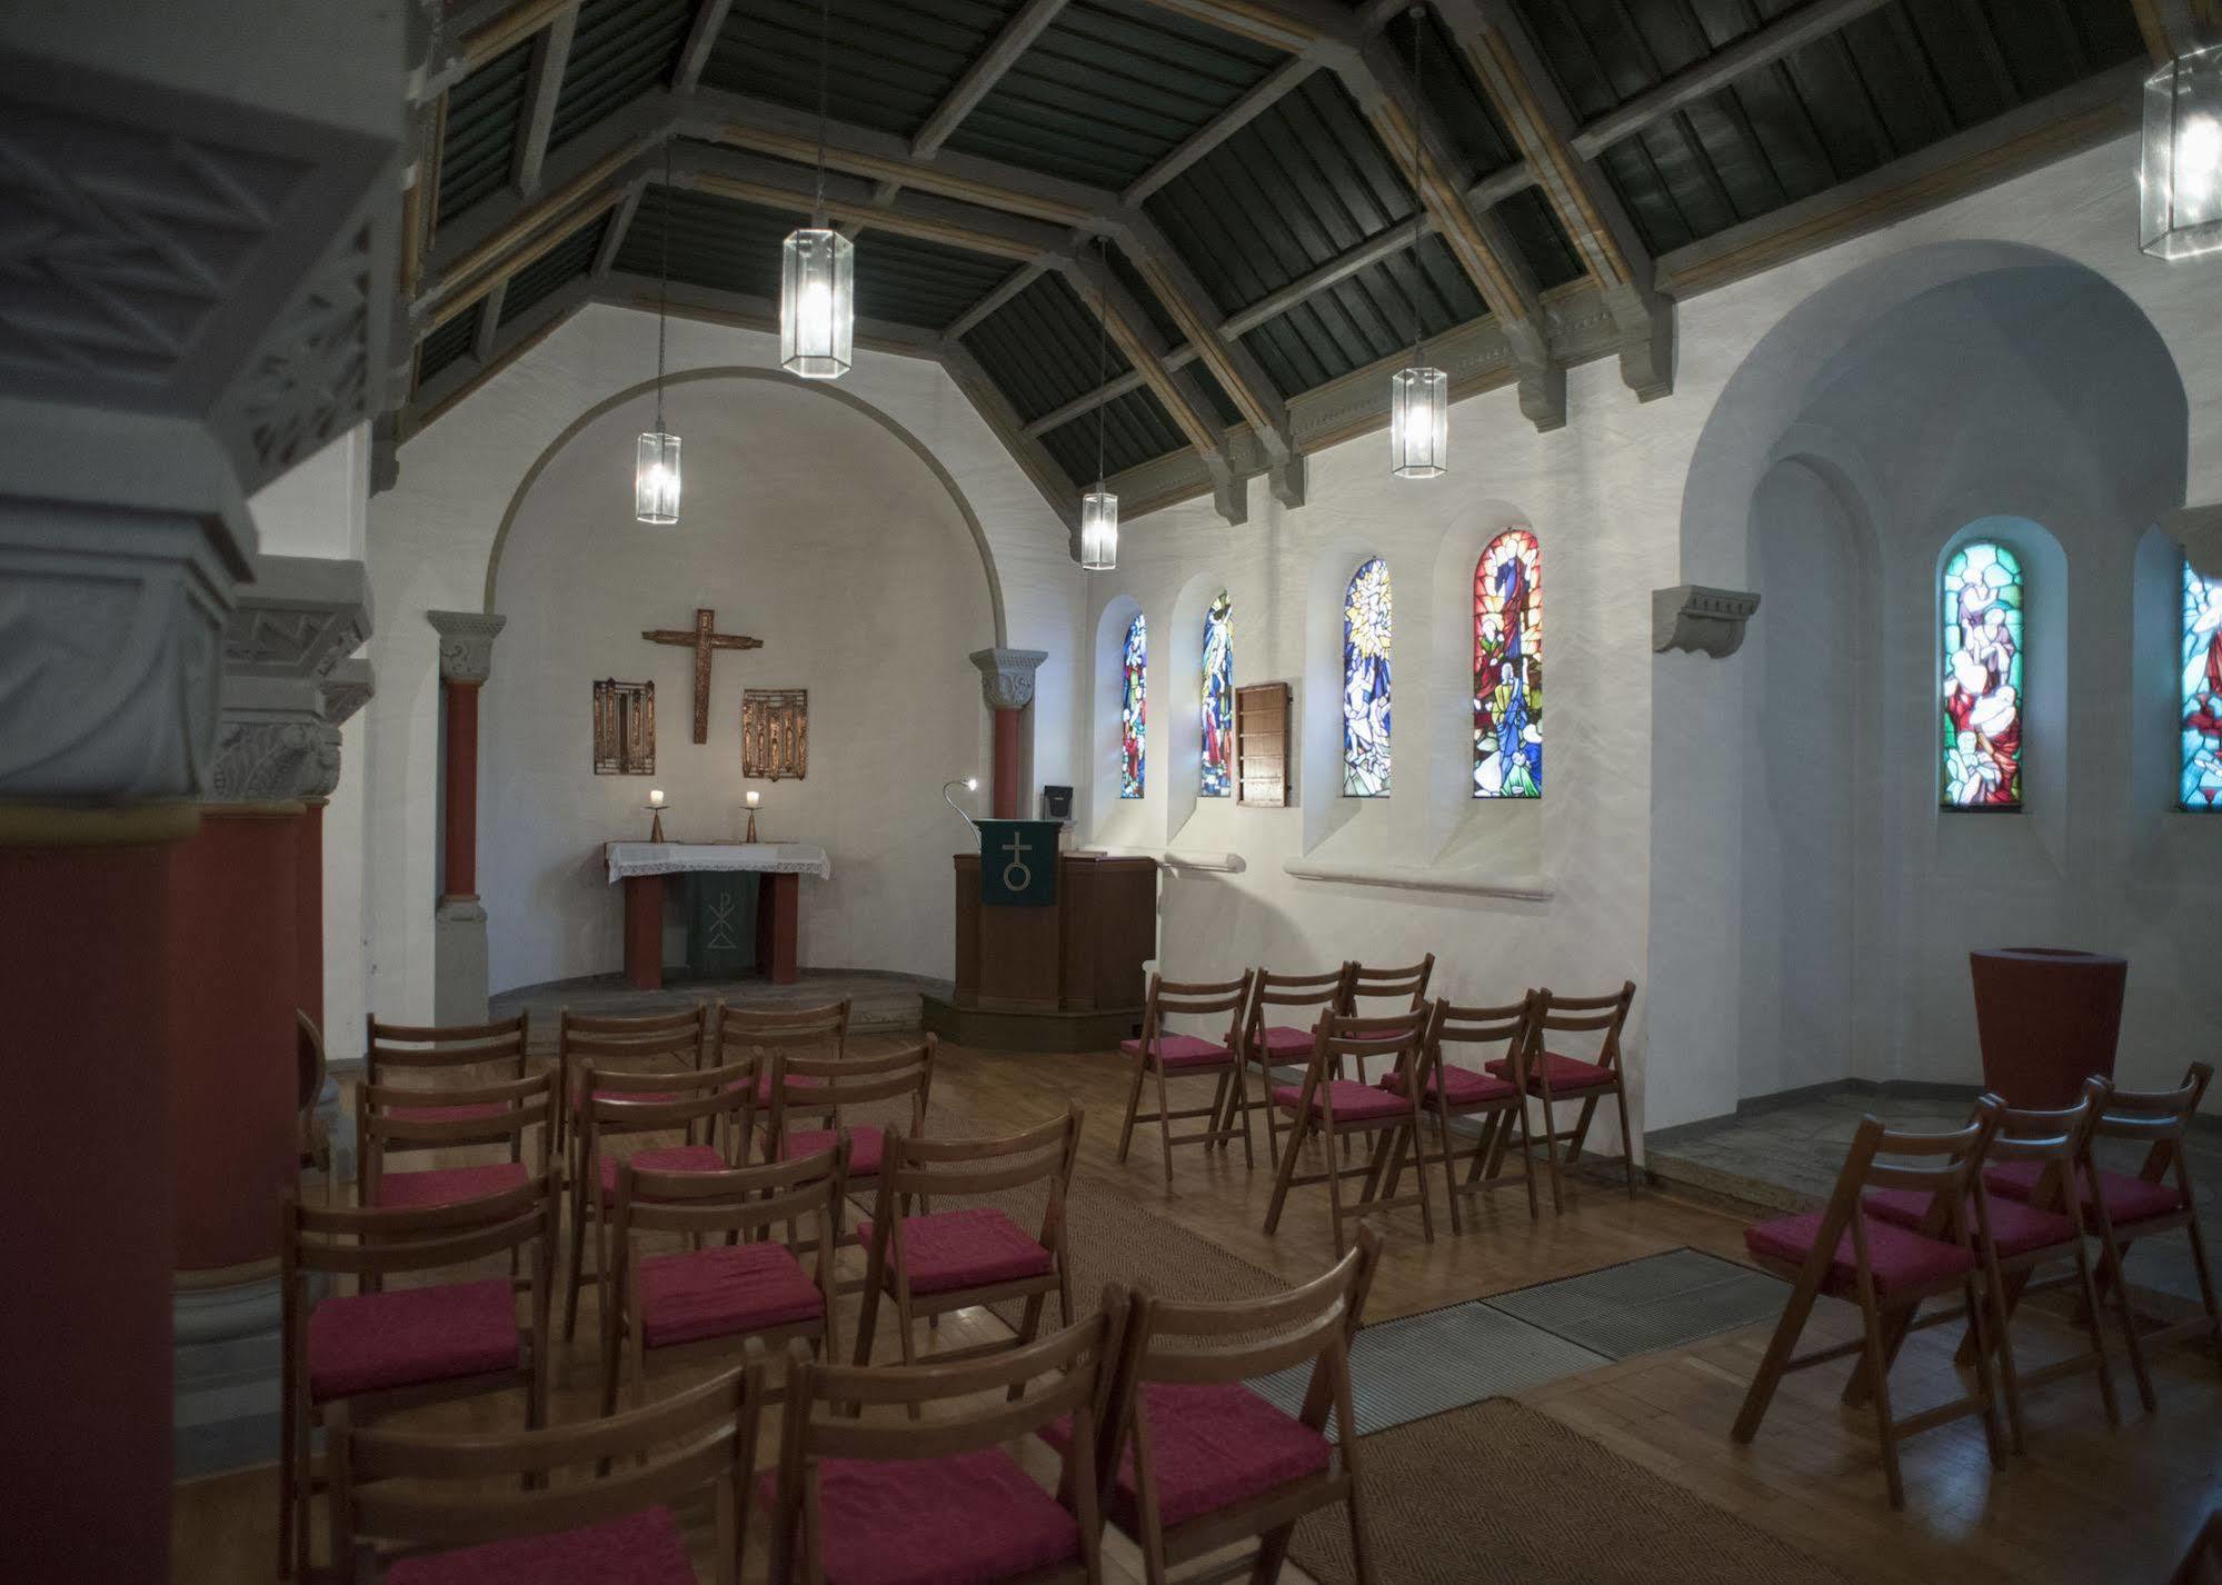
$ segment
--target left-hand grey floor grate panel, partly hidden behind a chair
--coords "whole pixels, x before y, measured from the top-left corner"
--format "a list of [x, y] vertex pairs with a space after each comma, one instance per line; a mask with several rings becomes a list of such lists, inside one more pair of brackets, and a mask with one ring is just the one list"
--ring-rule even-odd
[[[1551, 1336], [1482, 1303], [1382, 1320], [1351, 1345], [1351, 1407], [1371, 1436], [1482, 1398], [1540, 1387], [1609, 1365], [1604, 1354]], [[1289, 1414], [1304, 1407], [1311, 1367], [1260, 1376], [1251, 1387]], [[1333, 1420], [1329, 1420], [1333, 1429]]]

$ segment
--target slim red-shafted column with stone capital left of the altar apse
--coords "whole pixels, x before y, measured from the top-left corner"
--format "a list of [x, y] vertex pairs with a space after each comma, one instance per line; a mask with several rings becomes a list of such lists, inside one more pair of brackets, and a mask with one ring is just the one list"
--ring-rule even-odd
[[433, 1023], [487, 1020], [487, 909], [478, 900], [478, 689], [493, 671], [493, 640], [509, 622], [487, 611], [427, 611], [440, 631], [447, 702], [444, 865], [433, 927]]

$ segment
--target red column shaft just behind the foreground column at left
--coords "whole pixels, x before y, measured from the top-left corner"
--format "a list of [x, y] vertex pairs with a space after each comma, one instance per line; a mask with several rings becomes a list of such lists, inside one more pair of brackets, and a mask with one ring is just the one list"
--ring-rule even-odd
[[278, 1254], [296, 1167], [300, 805], [209, 805], [178, 849], [160, 980], [176, 1074], [180, 1272]]

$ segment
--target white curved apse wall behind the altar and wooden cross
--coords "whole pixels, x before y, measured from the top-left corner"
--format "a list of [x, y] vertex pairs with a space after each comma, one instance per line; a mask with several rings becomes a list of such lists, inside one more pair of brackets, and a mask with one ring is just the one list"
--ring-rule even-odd
[[[631, 516], [642, 393], [582, 429], [511, 525], [493, 602], [509, 618], [482, 714], [478, 887], [493, 989], [622, 967], [622, 905], [602, 843], [647, 834], [649, 787], [675, 840], [733, 840], [758, 789], [767, 840], [818, 843], [833, 878], [804, 880], [798, 960], [953, 974], [949, 854], [967, 831], [951, 776], [984, 778], [987, 711], [967, 660], [995, 640], [987, 574], [949, 491], [895, 436], [795, 380], [671, 387], [684, 440], [680, 522]], [[693, 651], [642, 629], [693, 625], [762, 649], [711, 665], [695, 745]], [[595, 776], [591, 685], [655, 682], [655, 774]], [[744, 687], [809, 689], [809, 776], [744, 780]], [[667, 956], [684, 960], [684, 938]]]

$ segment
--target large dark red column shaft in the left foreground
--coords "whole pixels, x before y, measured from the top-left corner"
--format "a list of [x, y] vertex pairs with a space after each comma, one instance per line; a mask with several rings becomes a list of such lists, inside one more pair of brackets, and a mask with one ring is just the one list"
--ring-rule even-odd
[[[0, 1574], [169, 1578], [169, 889], [189, 805], [0, 811]], [[33, 829], [44, 823], [44, 829]]]

